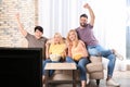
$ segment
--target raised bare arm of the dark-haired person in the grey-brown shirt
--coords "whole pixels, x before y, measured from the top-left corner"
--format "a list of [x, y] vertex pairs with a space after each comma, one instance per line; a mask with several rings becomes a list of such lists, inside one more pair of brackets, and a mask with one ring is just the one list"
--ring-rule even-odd
[[16, 21], [17, 21], [18, 29], [21, 30], [22, 35], [23, 35], [24, 37], [26, 37], [26, 36], [27, 36], [27, 32], [24, 29], [24, 27], [23, 27], [23, 25], [22, 25], [22, 23], [21, 23], [21, 21], [20, 21], [20, 14], [17, 13], [17, 14], [15, 15], [15, 17], [16, 17]]

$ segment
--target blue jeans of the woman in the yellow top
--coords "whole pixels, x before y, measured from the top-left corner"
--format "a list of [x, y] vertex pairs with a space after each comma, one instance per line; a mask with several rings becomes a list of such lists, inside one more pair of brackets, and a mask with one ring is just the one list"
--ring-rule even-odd
[[[46, 70], [44, 70], [44, 67], [46, 67], [46, 64], [47, 63], [57, 63], [57, 61], [51, 61], [50, 59], [47, 59], [46, 61], [42, 61], [42, 75], [46, 75]], [[49, 71], [49, 76], [52, 76], [53, 75], [53, 73], [54, 73], [54, 70], [50, 70]]]

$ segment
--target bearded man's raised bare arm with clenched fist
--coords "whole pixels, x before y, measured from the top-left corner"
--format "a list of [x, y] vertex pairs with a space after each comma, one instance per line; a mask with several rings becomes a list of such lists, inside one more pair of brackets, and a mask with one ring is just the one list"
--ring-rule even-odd
[[89, 13], [90, 13], [90, 25], [94, 25], [94, 20], [95, 20], [95, 15], [94, 15], [94, 12], [93, 12], [93, 10], [91, 9], [91, 7], [88, 4], [88, 3], [86, 3], [84, 5], [83, 5], [83, 8], [84, 9], [88, 9], [89, 10]]

